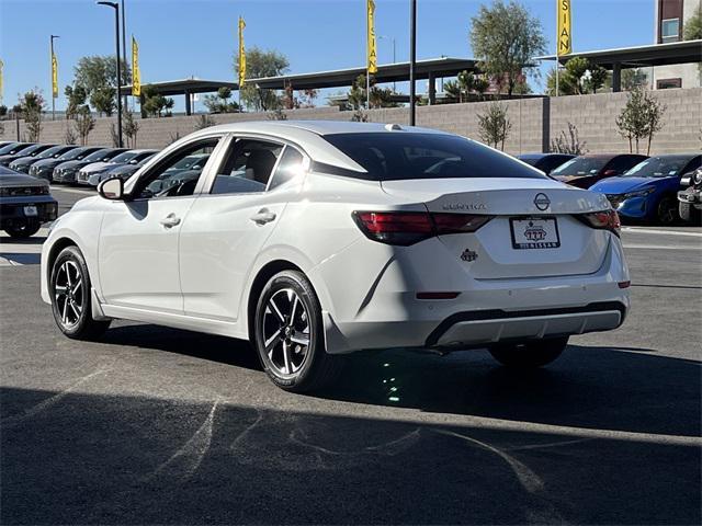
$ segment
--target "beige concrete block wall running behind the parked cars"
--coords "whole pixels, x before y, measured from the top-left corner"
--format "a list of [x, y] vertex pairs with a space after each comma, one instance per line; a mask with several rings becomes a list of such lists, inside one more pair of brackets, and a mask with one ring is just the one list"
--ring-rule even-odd
[[[653, 91], [666, 105], [664, 128], [654, 138], [652, 155], [700, 151], [702, 149], [702, 88]], [[509, 153], [542, 151], [551, 144], [551, 138], [567, 130], [567, 123], [575, 124], [580, 139], [592, 152], [629, 151], [629, 142], [618, 130], [615, 118], [626, 102], [626, 93], [602, 93], [595, 95], [559, 96], [551, 99], [525, 99], [503, 101], [508, 107], [508, 118], [512, 124], [505, 145]], [[487, 111], [490, 103], [475, 102], [417, 107], [417, 124], [443, 129], [479, 140], [478, 115]], [[285, 112], [288, 119], [332, 119], [349, 121], [352, 112], [340, 112], [337, 107], [321, 106]], [[406, 107], [371, 110], [369, 121], [377, 123], [407, 124], [409, 112]], [[217, 124], [267, 119], [261, 113], [212, 115]], [[176, 116], [138, 119], [138, 148], [162, 148], [178, 137], [184, 137], [195, 129], [197, 116]], [[90, 145], [112, 145], [111, 127], [115, 118], [97, 119], [95, 128], [88, 136]], [[16, 138], [15, 123], [5, 121], [3, 139]], [[65, 142], [66, 121], [45, 121], [41, 140]], [[25, 133], [20, 122], [20, 136]], [[645, 152], [646, 145], [641, 147]]]

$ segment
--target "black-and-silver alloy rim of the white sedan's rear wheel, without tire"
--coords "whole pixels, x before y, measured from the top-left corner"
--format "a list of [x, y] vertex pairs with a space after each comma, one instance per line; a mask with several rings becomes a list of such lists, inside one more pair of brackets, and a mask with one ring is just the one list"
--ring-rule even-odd
[[263, 345], [269, 365], [282, 377], [295, 375], [307, 359], [309, 313], [292, 288], [273, 293], [263, 311]]

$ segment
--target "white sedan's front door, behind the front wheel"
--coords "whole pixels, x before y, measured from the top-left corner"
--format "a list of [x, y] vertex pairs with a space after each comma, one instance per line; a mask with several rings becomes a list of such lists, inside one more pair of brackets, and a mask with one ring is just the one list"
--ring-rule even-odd
[[139, 178], [131, 190], [132, 201], [111, 202], [99, 244], [100, 286], [109, 305], [182, 315], [178, 238], [200, 193], [200, 179], [158, 194], [148, 184], [183, 157], [212, 152], [220, 138], [183, 145]]

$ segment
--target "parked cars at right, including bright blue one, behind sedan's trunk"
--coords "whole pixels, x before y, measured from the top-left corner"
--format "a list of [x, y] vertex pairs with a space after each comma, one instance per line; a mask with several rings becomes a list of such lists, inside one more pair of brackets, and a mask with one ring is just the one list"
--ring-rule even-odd
[[680, 219], [700, 222], [702, 156], [699, 152], [655, 157], [530, 153], [519, 159], [566, 184], [607, 195], [624, 220], [664, 225]]

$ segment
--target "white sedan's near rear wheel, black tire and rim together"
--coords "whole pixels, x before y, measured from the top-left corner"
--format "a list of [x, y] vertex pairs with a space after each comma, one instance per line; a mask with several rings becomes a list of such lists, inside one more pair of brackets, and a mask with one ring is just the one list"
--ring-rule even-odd
[[[341, 370], [342, 358], [326, 352], [319, 300], [301, 272], [283, 271], [269, 279], [257, 302], [254, 329], [261, 366], [281, 389], [318, 390]], [[301, 343], [305, 340], [307, 345]]]

